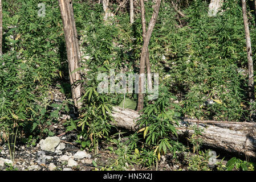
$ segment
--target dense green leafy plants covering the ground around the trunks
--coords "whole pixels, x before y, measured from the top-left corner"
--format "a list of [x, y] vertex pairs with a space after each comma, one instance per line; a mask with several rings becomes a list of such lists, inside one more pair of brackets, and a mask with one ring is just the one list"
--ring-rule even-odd
[[[68, 63], [58, 1], [46, 0], [46, 16], [38, 16], [38, 0], [3, 1], [3, 55], [0, 59], [0, 140], [7, 142], [18, 130], [24, 142], [52, 136], [48, 126], [58, 122], [60, 114], [73, 110], [68, 79]], [[151, 1], [145, 2], [146, 19], [152, 13]], [[108, 150], [118, 157], [110, 166], [99, 169], [125, 169], [128, 164], [157, 167], [166, 153], [199, 151], [186, 158], [189, 169], [209, 170], [207, 151], [190, 138], [192, 148], [174, 140], [178, 117], [247, 121], [250, 118], [247, 96], [247, 56], [240, 1], [227, 0], [224, 12], [208, 16], [209, 2], [181, 3], [184, 18], [178, 18], [172, 3], [161, 3], [159, 17], [149, 44], [152, 72], [159, 73], [159, 98], [144, 102], [144, 114], [135, 132], [111, 125], [111, 108], [119, 105], [123, 94], [96, 92], [97, 74], [138, 73], [143, 37], [140, 13], [129, 23], [129, 13], [121, 9], [111, 20], [103, 20], [103, 7], [74, 1], [76, 27], [86, 73], [83, 80], [83, 107], [79, 115], [67, 119], [67, 131], [78, 133], [81, 148], [99, 150], [108, 143], [118, 148]], [[115, 10], [117, 5], [109, 7]], [[137, 7], [139, 9], [139, 6]], [[248, 6], [253, 53], [256, 50], [255, 15]], [[254, 53], [254, 60], [256, 58]], [[52, 89], [66, 98], [56, 102]], [[137, 94], [125, 98], [137, 100]], [[145, 97], [147, 98], [147, 97]], [[209, 101], [214, 104], [206, 104]], [[253, 110], [255, 106], [253, 106]], [[194, 142], [194, 143], [193, 143]], [[116, 165], [119, 164], [119, 165]], [[96, 164], [95, 164], [96, 165]], [[100, 166], [100, 164], [97, 164]], [[96, 165], [96, 166], [97, 166]], [[247, 166], [246, 166], [247, 165]], [[231, 166], [231, 167], [230, 167]], [[254, 169], [240, 159], [218, 169]]]

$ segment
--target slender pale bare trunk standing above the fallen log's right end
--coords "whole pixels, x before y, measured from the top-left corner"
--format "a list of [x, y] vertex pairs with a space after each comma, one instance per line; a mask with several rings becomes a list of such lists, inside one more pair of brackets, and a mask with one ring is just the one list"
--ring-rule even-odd
[[250, 38], [250, 30], [249, 30], [249, 25], [247, 20], [246, 0], [242, 0], [242, 12], [243, 12], [243, 25], [245, 27], [246, 50], [247, 50], [247, 59], [248, 59], [249, 99], [250, 99], [250, 103], [252, 103], [254, 102], [253, 53], [251, 52], [251, 38]]

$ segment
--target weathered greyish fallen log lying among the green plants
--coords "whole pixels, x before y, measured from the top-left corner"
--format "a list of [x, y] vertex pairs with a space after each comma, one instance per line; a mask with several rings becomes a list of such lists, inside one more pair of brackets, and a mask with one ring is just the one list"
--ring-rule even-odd
[[[115, 119], [113, 125], [131, 131], [137, 129], [135, 122], [140, 117], [137, 111], [115, 106], [112, 116]], [[198, 125], [203, 129], [198, 137], [202, 139], [202, 144], [205, 146], [256, 158], [256, 123], [180, 118], [178, 124], [176, 129], [179, 138], [192, 135], [193, 125]]]

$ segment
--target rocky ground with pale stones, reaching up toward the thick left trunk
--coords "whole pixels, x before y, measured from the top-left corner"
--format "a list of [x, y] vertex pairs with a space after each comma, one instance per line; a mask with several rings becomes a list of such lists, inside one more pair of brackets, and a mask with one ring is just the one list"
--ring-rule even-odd
[[[56, 103], [66, 99], [58, 89], [52, 89], [52, 93]], [[66, 132], [63, 126], [68, 118], [74, 118], [74, 115], [60, 114], [58, 123], [48, 127], [55, 137], [47, 137], [30, 145], [18, 141], [15, 144], [13, 161], [10, 160], [7, 143], [0, 141], [0, 171], [91, 171], [115, 164], [117, 155], [107, 149], [108, 144], [101, 144], [97, 154], [87, 150], [81, 151], [79, 144], [75, 142], [76, 133]], [[174, 161], [171, 155], [166, 154], [161, 158], [158, 170], [186, 170], [182, 161], [182, 158], [181, 162]], [[156, 168], [127, 164], [124, 170], [144, 171]]]

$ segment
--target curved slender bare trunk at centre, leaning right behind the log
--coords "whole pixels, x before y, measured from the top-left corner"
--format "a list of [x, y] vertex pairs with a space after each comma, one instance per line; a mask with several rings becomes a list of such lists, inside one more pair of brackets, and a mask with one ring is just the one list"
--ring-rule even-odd
[[160, 3], [161, 0], [157, 0], [156, 4], [153, 5], [153, 14], [151, 17], [151, 20], [148, 25], [148, 30], [145, 35], [142, 51], [141, 51], [141, 57], [140, 57], [140, 77], [139, 78], [139, 94], [138, 94], [138, 104], [137, 104], [137, 111], [140, 111], [143, 109], [143, 102], [144, 102], [144, 93], [143, 93], [143, 83], [144, 83], [144, 75], [145, 75], [145, 63], [147, 60], [147, 53], [148, 53], [148, 45], [149, 45], [149, 40], [151, 39], [152, 31], [153, 28], [155, 27], [156, 24], [156, 19], [159, 14], [159, 9], [160, 9]]

